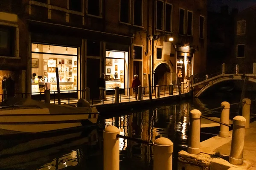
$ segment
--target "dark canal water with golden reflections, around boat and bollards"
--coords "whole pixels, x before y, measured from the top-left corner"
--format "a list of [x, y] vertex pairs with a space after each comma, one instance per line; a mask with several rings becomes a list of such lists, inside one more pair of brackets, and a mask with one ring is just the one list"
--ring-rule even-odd
[[[102, 129], [114, 125], [120, 134], [135, 139], [154, 142], [159, 137], [174, 143], [173, 169], [177, 169], [177, 153], [188, 144], [189, 111], [207, 111], [220, 107], [221, 102], [236, 103], [241, 93], [214, 94], [211, 98], [170, 102], [154, 108], [115, 113], [99, 117], [96, 128], [49, 138], [18, 142], [0, 139], [1, 170], [103, 170]], [[246, 97], [254, 100], [255, 93]], [[238, 105], [231, 107], [231, 117], [237, 115]], [[220, 111], [209, 112], [219, 117]], [[252, 112], [255, 113], [254, 104]], [[217, 113], [217, 114], [216, 114]], [[201, 141], [218, 133], [218, 129], [202, 130]], [[211, 133], [211, 134], [207, 134]], [[12, 144], [12, 143], [17, 143]], [[120, 138], [120, 170], [153, 170], [153, 148]]]

